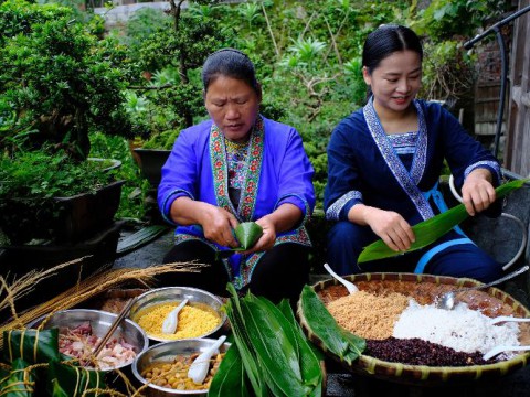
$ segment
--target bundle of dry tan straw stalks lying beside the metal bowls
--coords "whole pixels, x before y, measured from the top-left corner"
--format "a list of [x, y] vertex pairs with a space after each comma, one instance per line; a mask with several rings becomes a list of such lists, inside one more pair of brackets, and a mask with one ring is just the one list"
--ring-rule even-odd
[[[59, 265], [50, 270], [46, 270], [45, 273], [51, 273], [56, 271], [57, 268], [71, 265], [71, 262]], [[76, 286], [66, 290], [63, 293], [57, 294], [55, 298], [25, 311], [22, 314], [18, 314], [14, 310], [13, 304], [13, 287], [7, 286], [4, 280], [2, 282], [1, 291], [6, 290], [8, 293], [8, 301], [11, 303], [13, 320], [0, 325], [0, 348], [3, 347], [3, 331], [24, 329], [28, 323], [40, 318], [41, 315], [54, 313], [56, 311], [70, 309], [78, 303], [86, 301], [89, 298], [93, 298], [110, 288], [116, 288], [117, 286], [127, 283], [127, 282], [140, 282], [145, 286], [149, 286], [153, 281], [153, 277], [173, 271], [198, 271], [200, 267], [204, 265], [194, 264], [194, 262], [174, 262], [167, 265], [157, 265], [148, 268], [124, 268], [124, 269], [110, 269], [106, 270], [92, 277], [86, 278], [85, 280], [78, 281]], [[31, 277], [24, 279], [23, 286], [31, 289], [31, 287], [39, 281], [43, 272], [32, 273]], [[49, 275], [47, 275], [49, 276]], [[18, 286], [18, 296], [24, 293], [24, 288]]]

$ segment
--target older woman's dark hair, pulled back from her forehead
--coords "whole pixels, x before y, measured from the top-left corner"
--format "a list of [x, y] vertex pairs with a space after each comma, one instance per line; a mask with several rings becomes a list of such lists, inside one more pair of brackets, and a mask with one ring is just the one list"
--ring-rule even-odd
[[259, 95], [259, 84], [251, 58], [235, 49], [221, 49], [210, 54], [202, 66], [204, 92], [220, 75], [244, 81]]

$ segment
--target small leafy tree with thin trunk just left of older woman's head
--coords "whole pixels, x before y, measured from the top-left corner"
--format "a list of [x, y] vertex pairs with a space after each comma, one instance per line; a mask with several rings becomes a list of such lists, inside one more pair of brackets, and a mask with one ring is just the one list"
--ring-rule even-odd
[[[194, 1], [191, 10], [181, 12], [180, 3], [169, 11], [171, 20], [148, 35], [134, 51], [139, 54], [138, 63], [148, 76], [140, 82], [141, 97], [150, 111], [137, 120], [151, 129], [147, 135], [167, 129], [181, 129], [203, 117], [204, 106], [200, 79], [200, 66], [205, 57], [225, 42], [225, 35], [214, 14], [201, 14], [199, 6], [216, 1]], [[199, 7], [199, 8], [198, 8]], [[195, 11], [192, 11], [195, 10]], [[144, 88], [145, 87], [145, 88]], [[169, 115], [173, 115], [170, 117]], [[141, 116], [161, 116], [160, 125], [152, 125]]]

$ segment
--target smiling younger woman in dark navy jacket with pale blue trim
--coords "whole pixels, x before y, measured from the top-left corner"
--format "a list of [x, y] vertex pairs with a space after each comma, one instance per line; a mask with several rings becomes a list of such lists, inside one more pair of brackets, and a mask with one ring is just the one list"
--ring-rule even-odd
[[337, 126], [328, 146], [325, 210], [327, 219], [337, 221], [328, 234], [328, 259], [341, 275], [415, 270], [488, 281], [501, 273], [500, 265], [459, 228], [422, 250], [357, 264], [362, 248], [378, 238], [406, 250], [415, 238], [411, 225], [443, 211], [436, 187], [444, 159], [470, 215], [496, 198], [495, 157], [447, 110], [415, 99], [422, 60], [420, 39], [407, 28], [382, 25], [367, 37], [362, 72], [370, 98]]

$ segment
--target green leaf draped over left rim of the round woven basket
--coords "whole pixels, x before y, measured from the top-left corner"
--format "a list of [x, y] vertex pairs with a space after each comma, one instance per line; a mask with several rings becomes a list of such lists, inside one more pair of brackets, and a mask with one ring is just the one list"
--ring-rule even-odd
[[322, 342], [325, 350], [351, 365], [362, 354], [367, 342], [342, 329], [311, 287], [304, 286], [300, 302], [310, 331]]

